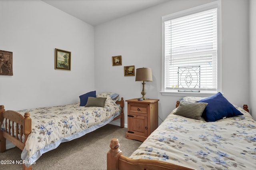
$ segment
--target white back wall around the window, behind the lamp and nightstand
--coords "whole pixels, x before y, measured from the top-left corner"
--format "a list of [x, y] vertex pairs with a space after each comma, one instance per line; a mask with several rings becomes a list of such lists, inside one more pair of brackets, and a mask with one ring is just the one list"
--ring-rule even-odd
[[[134, 76], [124, 77], [124, 66], [151, 67], [153, 81], [146, 82], [146, 97], [160, 99], [158, 115], [164, 120], [181, 97], [160, 93], [161, 17], [212, 1], [172, 0], [96, 26], [96, 90], [119, 93], [124, 99], [141, 97], [141, 82]], [[112, 66], [111, 57], [115, 55], [122, 55], [121, 66]], [[222, 92], [239, 106], [249, 102], [248, 56], [248, 1], [222, 0]]]

